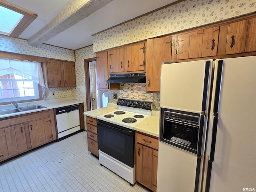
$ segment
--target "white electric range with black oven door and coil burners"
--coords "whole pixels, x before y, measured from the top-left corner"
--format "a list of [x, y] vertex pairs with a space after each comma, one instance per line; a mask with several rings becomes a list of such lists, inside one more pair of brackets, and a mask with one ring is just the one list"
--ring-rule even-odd
[[152, 114], [152, 102], [118, 99], [117, 106], [97, 116], [99, 162], [134, 185], [134, 126]]

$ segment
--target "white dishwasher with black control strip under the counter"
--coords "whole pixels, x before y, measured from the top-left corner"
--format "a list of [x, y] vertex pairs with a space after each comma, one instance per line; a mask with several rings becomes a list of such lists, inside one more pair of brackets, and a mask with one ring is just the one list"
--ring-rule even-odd
[[58, 139], [60, 141], [80, 131], [79, 105], [56, 108]]

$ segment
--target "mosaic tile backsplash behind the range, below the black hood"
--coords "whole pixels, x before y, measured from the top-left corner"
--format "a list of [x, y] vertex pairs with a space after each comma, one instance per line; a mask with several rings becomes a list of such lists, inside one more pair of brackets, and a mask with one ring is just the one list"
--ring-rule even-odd
[[108, 102], [117, 103], [117, 98], [153, 102], [153, 110], [160, 108], [160, 94], [146, 93], [146, 83], [120, 83], [119, 90], [108, 91]]

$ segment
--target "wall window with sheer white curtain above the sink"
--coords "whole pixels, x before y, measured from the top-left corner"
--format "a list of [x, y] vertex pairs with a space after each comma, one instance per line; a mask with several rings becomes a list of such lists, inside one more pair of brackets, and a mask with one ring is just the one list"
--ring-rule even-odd
[[38, 62], [0, 58], [0, 102], [39, 100], [44, 79]]

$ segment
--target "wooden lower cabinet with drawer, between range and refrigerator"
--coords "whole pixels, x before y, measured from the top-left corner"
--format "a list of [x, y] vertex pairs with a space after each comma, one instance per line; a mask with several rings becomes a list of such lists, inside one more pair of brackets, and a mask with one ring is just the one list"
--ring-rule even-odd
[[158, 138], [136, 132], [135, 180], [156, 192]]

